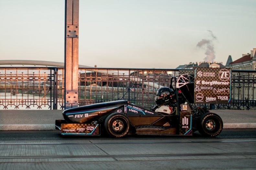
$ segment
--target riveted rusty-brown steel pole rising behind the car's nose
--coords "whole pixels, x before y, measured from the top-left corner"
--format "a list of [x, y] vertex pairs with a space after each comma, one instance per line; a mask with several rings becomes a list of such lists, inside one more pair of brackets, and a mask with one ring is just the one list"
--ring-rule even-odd
[[65, 0], [65, 109], [78, 106], [79, 0]]

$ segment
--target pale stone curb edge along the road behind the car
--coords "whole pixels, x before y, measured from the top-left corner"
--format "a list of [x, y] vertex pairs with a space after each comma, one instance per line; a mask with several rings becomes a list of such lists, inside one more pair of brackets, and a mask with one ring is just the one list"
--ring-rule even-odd
[[[256, 123], [226, 123], [223, 129], [256, 129]], [[55, 124], [0, 124], [2, 130], [55, 130]]]

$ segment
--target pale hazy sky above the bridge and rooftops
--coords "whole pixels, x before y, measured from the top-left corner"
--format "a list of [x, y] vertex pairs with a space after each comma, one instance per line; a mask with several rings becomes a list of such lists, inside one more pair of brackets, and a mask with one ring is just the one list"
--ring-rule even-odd
[[[0, 0], [0, 60], [64, 62], [64, 0]], [[256, 0], [80, 0], [79, 65], [226, 64], [256, 48]]]

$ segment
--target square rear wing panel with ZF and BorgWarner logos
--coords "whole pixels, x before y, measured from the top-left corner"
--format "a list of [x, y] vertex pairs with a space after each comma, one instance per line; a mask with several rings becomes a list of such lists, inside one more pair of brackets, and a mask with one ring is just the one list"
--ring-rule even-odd
[[194, 102], [201, 104], [231, 103], [231, 69], [195, 68]]

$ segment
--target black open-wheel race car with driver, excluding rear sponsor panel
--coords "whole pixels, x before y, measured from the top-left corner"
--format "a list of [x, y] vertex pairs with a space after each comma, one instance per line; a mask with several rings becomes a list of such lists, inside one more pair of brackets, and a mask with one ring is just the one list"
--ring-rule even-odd
[[[174, 87], [173, 85], [174, 84]], [[185, 74], [172, 77], [170, 87], [161, 87], [156, 105], [146, 109], [118, 100], [85, 105], [63, 111], [64, 120], [56, 120], [61, 135], [100, 135], [112, 137], [138, 135], [192, 135], [214, 137], [221, 133], [220, 116], [206, 108], [195, 107], [194, 77]]]

